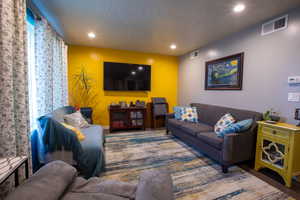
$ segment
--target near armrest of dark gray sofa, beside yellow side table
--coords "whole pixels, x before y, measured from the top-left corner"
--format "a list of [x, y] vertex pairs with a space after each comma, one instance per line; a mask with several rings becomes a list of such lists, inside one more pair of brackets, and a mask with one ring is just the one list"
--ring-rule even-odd
[[224, 137], [223, 161], [229, 164], [250, 160], [254, 156], [256, 135], [251, 132], [231, 133]]

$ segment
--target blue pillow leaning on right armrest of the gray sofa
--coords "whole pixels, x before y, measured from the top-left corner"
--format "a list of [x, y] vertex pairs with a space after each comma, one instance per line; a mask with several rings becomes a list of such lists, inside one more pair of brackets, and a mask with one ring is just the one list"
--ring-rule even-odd
[[246, 119], [239, 121], [237, 123], [230, 124], [222, 132], [218, 133], [219, 137], [224, 137], [226, 134], [230, 133], [240, 133], [247, 131], [253, 124], [253, 119]]

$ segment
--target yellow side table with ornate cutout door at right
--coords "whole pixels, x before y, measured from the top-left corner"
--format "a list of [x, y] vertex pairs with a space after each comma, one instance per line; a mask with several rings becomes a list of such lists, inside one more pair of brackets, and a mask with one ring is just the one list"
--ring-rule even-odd
[[282, 176], [287, 187], [300, 175], [300, 127], [258, 122], [255, 170], [269, 168]]

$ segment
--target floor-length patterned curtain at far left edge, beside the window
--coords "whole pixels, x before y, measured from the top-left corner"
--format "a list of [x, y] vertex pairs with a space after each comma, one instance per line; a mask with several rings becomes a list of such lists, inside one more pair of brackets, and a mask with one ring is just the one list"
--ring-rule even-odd
[[25, 0], [0, 0], [0, 157], [30, 157], [25, 13]]

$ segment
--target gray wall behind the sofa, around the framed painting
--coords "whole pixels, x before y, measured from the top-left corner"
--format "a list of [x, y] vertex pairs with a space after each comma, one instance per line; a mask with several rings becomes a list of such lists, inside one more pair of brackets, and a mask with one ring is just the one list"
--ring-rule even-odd
[[[199, 49], [200, 55], [180, 58], [179, 104], [199, 102], [263, 112], [274, 108], [290, 123], [299, 102], [288, 102], [288, 76], [300, 76], [300, 8], [289, 14], [288, 29], [261, 36], [261, 24]], [[204, 90], [205, 62], [245, 52], [242, 91]]]

